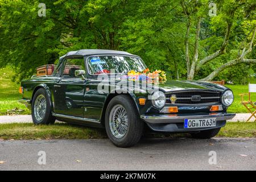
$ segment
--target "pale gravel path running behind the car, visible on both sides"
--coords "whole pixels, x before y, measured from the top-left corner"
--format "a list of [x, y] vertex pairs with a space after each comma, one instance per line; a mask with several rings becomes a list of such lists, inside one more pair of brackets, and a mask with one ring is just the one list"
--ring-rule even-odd
[[[237, 114], [231, 122], [246, 121], [250, 117], [249, 113]], [[255, 118], [251, 118], [250, 121], [254, 121]], [[31, 123], [31, 115], [0, 115], [0, 123]]]

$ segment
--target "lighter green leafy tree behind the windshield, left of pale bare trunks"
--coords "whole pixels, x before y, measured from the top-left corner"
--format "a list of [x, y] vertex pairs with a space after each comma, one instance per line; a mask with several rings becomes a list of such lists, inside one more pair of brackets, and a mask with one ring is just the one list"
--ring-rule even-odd
[[185, 74], [183, 17], [179, 1], [141, 1], [123, 23], [120, 48], [140, 55], [148, 67], [164, 69], [169, 77]]

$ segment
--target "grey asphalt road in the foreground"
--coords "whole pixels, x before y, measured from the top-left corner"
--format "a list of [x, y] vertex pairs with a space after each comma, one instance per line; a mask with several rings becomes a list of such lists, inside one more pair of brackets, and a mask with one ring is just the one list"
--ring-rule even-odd
[[[38, 164], [39, 151], [46, 152], [45, 165]], [[209, 164], [210, 151], [217, 164]], [[108, 139], [0, 141], [0, 170], [255, 169], [256, 139], [146, 138], [131, 148]]]

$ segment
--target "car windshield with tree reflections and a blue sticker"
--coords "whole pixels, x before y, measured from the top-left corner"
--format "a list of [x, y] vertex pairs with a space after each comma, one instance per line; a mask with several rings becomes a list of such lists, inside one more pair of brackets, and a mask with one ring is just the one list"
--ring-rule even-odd
[[91, 56], [88, 58], [88, 67], [91, 75], [110, 73], [128, 73], [131, 70], [141, 72], [146, 69], [144, 62], [138, 57], [130, 56]]

